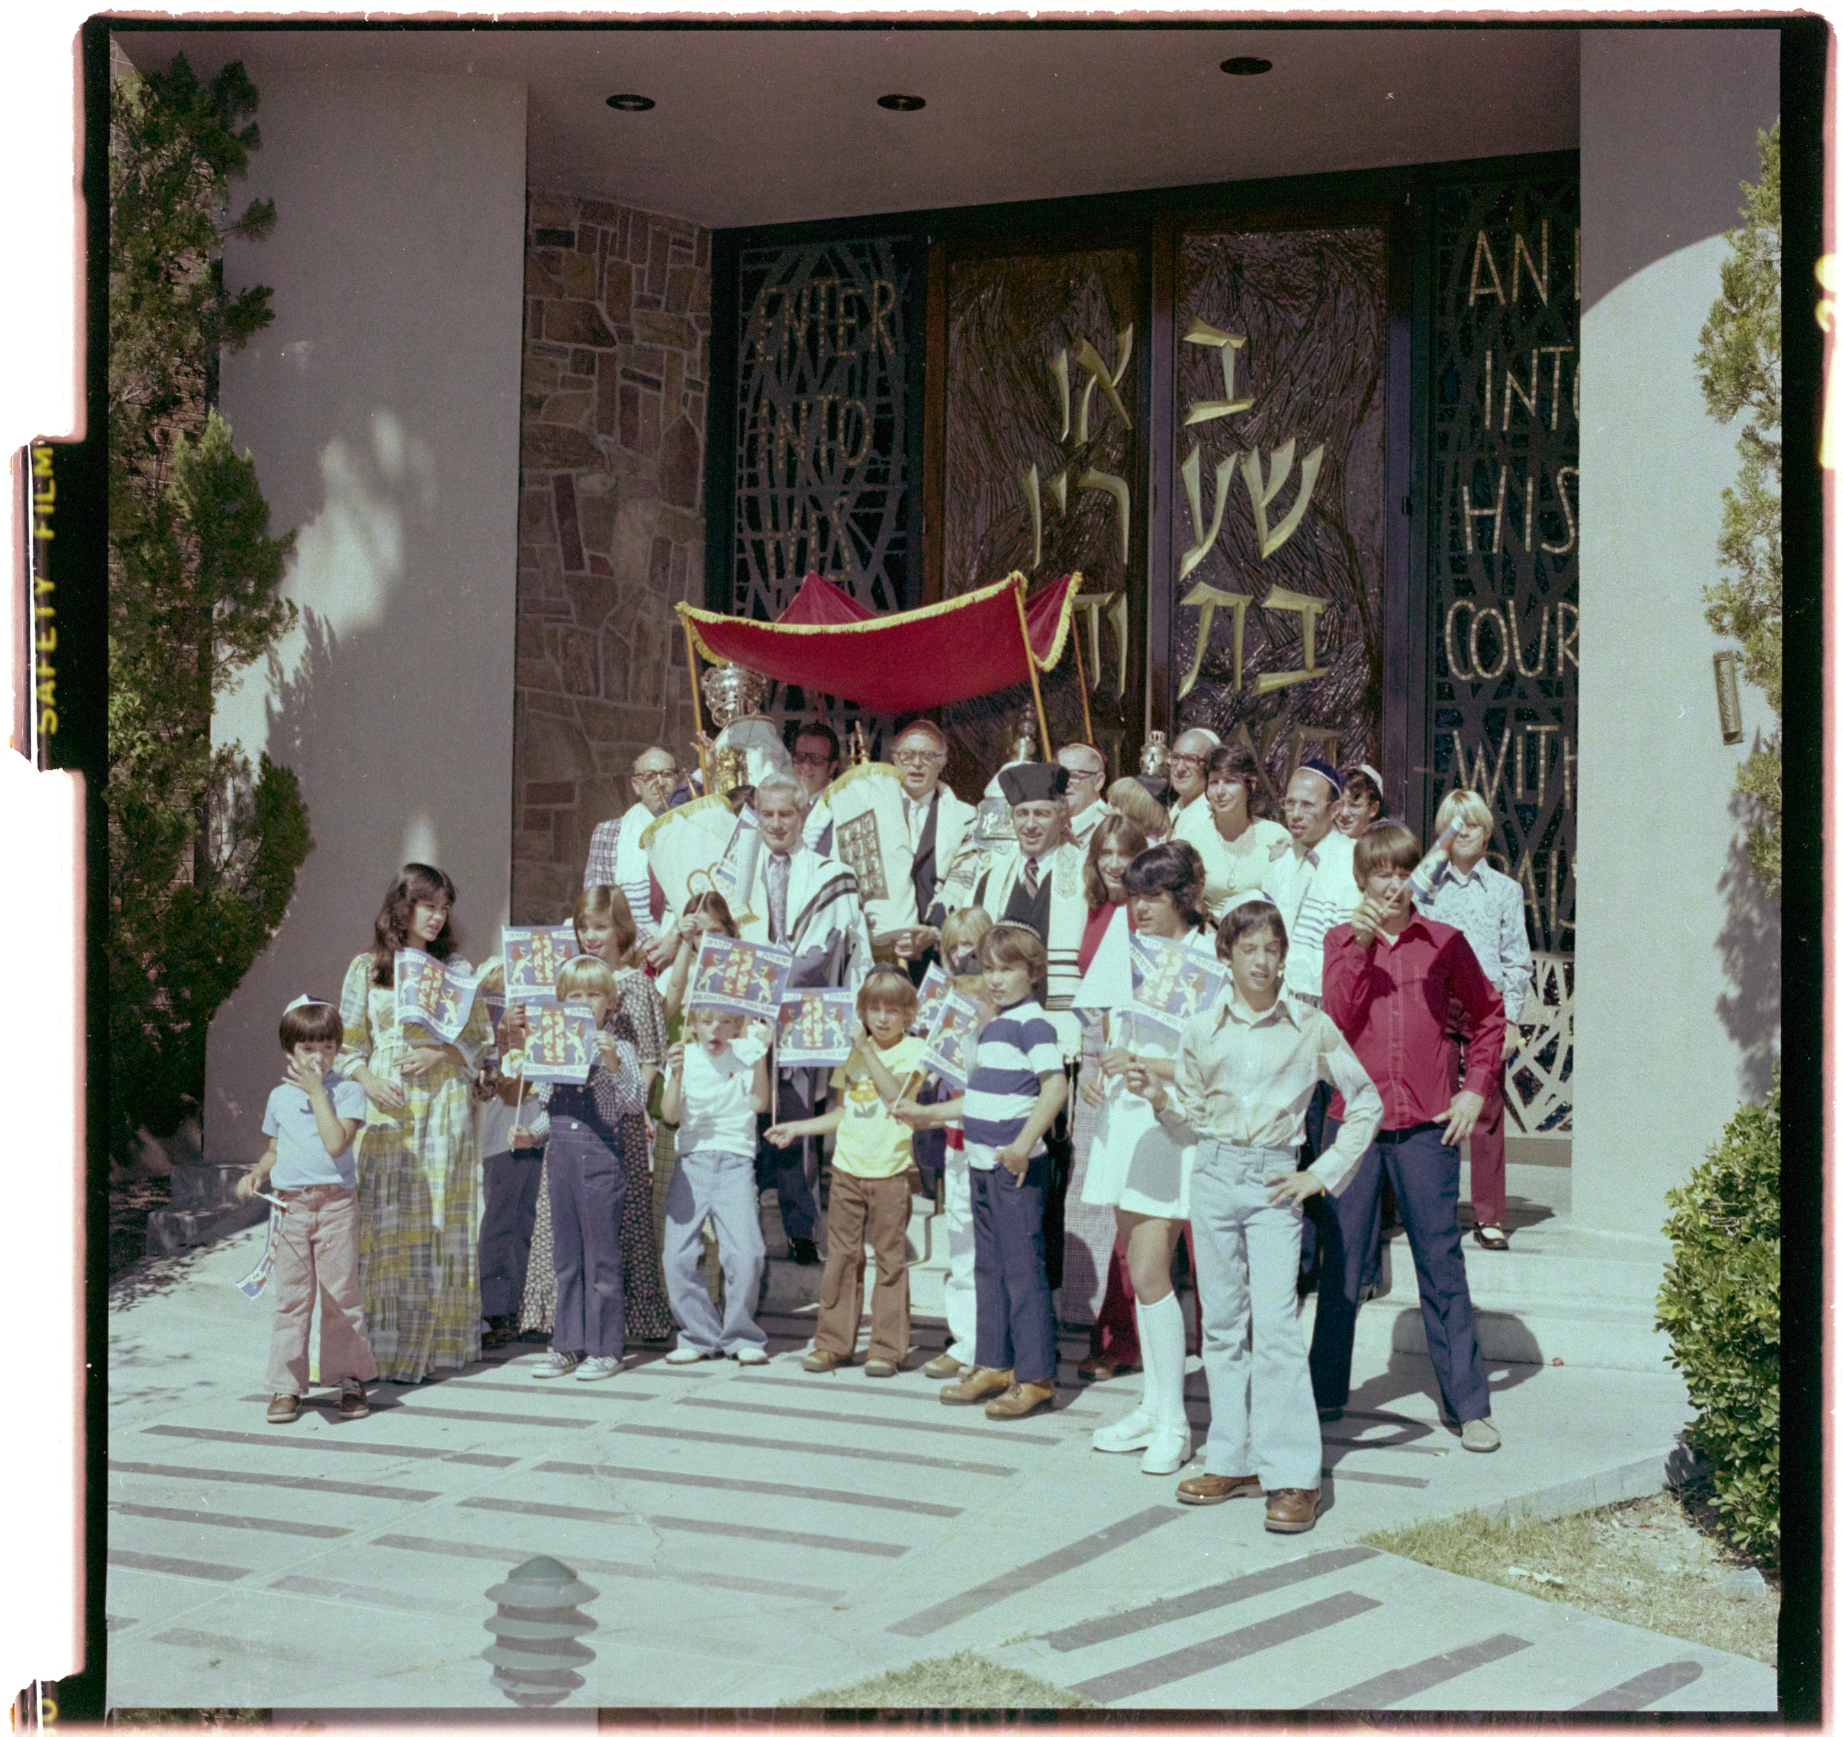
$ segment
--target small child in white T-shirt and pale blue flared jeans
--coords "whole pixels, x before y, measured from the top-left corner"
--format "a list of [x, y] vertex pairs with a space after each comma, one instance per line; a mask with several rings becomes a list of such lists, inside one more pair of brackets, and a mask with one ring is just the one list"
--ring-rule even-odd
[[[667, 1363], [735, 1358], [767, 1363], [756, 1291], [769, 1251], [756, 1194], [756, 1116], [769, 1107], [769, 1046], [743, 1035], [743, 1017], [715, 1008], [686, 1015], [691, 1043], [665, 1052], [660, 1118], [678, 1124], [678, 1168], [665, 1195], [665, 1295], [678, 1321]], [[704, 1219], [722, 1258], [722, 1317], [697, 1269]]]

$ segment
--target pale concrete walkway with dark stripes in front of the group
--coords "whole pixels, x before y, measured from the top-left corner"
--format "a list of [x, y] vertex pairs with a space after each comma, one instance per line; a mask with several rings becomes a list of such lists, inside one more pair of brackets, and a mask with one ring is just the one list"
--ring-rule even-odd
[[[1753, 1660], [1362, 1547], [1467, 1509], [1648, 1494], [1686, 1405], [1670, 1372], [1491, 1365], [1504, 1448], [1439, 1426], [1425, 1358], [1356, 1369], [1325, 1426], [1327, 1509], [1185, 1509], [1089, 1433], [1137, 1378], [1074, 1380], [1023, 1424], [949, 1411], [918, 1372], [800, 1370], [809, 1317], [763, 1315], [772, 1365], [531, 1381], [531, 1346], [339, 1424], [317, 1393], [264, 1422], [269, 1300], [232, 1288], [260, 1230], [151, 1267], [111, 1306], [109, 1700], [511, 1711], [481, 1658], [487, 1590], [534, 1555], [595, 1597], [593, 1660], [553, 1713], [763, 1708], [962, 1649], [1109, 1708], [1749, 1713]], [[918, 1323], [918, 1343], [938, 1343]], [[920, 1359], [914, 1359], [920, 1361]], [[1194, 1365], [1194, 1359], [1192, 1359]], [[1192, 1374], [1192, 1422], [1207, 1422]]]

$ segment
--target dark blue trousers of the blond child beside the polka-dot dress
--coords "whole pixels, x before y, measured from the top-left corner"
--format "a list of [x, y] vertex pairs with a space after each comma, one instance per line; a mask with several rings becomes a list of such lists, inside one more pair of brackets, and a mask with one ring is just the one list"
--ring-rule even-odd
[[619, 1137], [575, 1116], [551, 1116], [551, 1243], [557, 1324], [551, 1350], [617, 1358], [627, 1348], [621, 1293], [621, 1201], [627, 1164]]

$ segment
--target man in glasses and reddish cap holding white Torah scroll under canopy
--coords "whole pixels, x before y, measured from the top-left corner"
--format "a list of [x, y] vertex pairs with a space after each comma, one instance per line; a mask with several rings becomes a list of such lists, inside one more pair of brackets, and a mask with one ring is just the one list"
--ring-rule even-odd
[[947, 915], [942, 882], [979, 810], [940, 781], [947, 739], [927, 718], [903, 726], [890, 759], [835, 777], [807, 814], [805, 842], [816, 847], [831, 829], [833, 855], [857, 875], [875, 956], [920, 984]]

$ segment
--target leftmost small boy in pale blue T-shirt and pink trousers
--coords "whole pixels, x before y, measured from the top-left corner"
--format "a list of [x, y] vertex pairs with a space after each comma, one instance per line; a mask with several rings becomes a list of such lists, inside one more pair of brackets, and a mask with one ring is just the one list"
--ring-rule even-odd
[[321, 1297], [321, 1380], [339, 1383], [339, 1416], [370, 1413], [365, 1383], [378, 1365], [365, 1339], [358, 1288], [358, 1175], [352, 1137], [365, 1089], [334, 1072], [343, 1026], [332, 1002], [302, 995], [282, 1013], [288, 1070], [269, 1092], [269, 1148], [236, 1184], [247, 1201], [269, 1183], [282, 1207], [275, 1234], [275, 1321], [269, 1332], [269, 1422], [291, 1424], [308, 1393], [308, 1337]]

